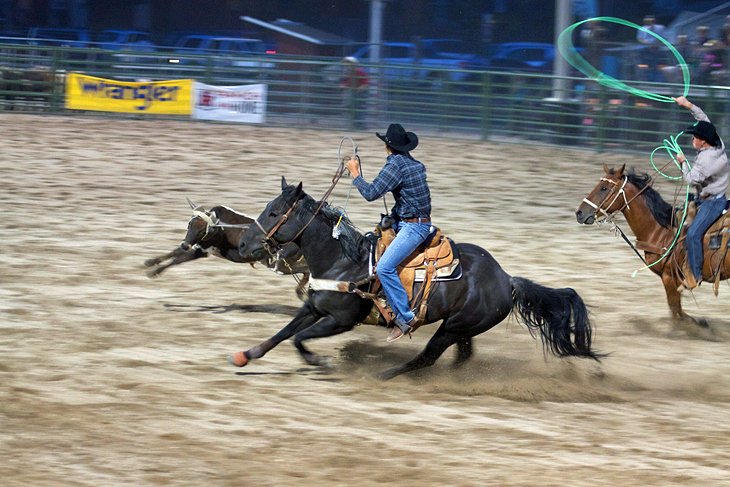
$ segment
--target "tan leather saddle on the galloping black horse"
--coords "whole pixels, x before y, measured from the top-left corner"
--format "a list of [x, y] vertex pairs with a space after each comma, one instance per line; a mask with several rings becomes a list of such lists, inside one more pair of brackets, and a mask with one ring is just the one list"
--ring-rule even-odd
[[[377, 292], [380, 289], [380, 280], [377, 279], [375, 269], [380, 257], [395, 239], [395, 230], [390, 226], [383, 228], [382, 225], [378, 225], [373, 233], [379, 238], [373, 246], [371, 263], [372, 274], [376, 279], [371, 291]], [[398, 266], [398, 277], [408, 294], [411, 309], [417, 310], [417, 323], [414, 329], [418, 328], [426, 316], [428, 297], [433, 290], [433, 283], [461, 277], [456, 245], [450, 238], [445, 237], [439, 228], [434, 228], [429, 237]], [[383, 309], [380, 311], [382, 313]], [[384, 318], [389, 321], [392, 315]]]

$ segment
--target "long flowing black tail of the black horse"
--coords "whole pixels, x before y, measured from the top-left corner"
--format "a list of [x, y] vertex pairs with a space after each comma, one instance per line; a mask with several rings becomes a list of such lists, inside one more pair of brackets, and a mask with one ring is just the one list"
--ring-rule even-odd
[[522, 277], [511, 277], [510, 282], [512, 312], [532, 336], [540, 332], [545, 350], [558, 357], [599, 360], [600, 355], [591, 350], [593, 330], [588, 308], [575, 290], [552, 289]]

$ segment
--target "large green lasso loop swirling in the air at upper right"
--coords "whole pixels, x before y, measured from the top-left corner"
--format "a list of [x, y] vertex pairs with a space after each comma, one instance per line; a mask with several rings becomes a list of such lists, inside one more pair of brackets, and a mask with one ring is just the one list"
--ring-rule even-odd
[[674, 55], [674, 57], [677, 59], [678, 65], [682, 70], [682, 81], [684, 84], [684, 92], [683, 96], [687, 96], [687, 93], [689, 93], [689, 68], [687, 67], [687, 63], [684, 61], [684, 58], [682, 55], [677, 51], [677, 49], [674, 48], [674, 46], [664, 39], [662, 36], [655, 34], [654, 32], [650, 31], [649, 29], [646, 29], [640, 25], [634, 24], [633, 22], [629, 22], [628, 20], [618, 19], [616, 17], [593, 17], [590, 19], [582, 20], [580, 22], [577, 22], [567, 29], [565, 29], [563, 32], [560, 33], [558, 36], [558, 51], [560, 54], [565, 58], [565, 60], [573, 66], [575, 69], [580, 71], [581, 73], [585, 74], [589, 78], [591, 78], [596, 83], [599, 83], [603, 86], [607, 86], [609, 88], [615, 88], [622, 91], [627, 91], [633, 95], [640, 96], [642, 98], [646, 98], [648, 100], [654, 100], [654, 101], [660, 101], [664, 103], [673, 103], [674, 99], [669, 96], [660, 95], [658, 93], [652, 93], [650, 91], [641, 90], [639, 88], [634, 88], [633, 86], [629, 86], [623, 81], [617, 80], [613, 76], [609, 76], [606, 73], [599, 71], [596, 69], [591, 63], [586, 61], [586, 59], [581, 56], [578, 53], [578, 50], [573, 46], [573, 31], [580, 27], [581, 25], [585, 24], [586, 22], [610, 22], [613, 24], [619, 24], [624, 25], [627, 27], [631, 27], [633, 29], [640, 30], [642, 32], [646, 32], [647, 34], [652, 35], [655, 37], [659, 42], [664, 44], [667, 49]]

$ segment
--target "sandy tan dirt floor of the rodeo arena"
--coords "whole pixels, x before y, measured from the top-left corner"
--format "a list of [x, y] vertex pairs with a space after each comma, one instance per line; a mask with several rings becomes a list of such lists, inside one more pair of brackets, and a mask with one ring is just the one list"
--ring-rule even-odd
[[[623, 241], [573, 214], [604, 162], [648, 170], [643, 156], [421, 135], [436, 223], [512, 275], [575, 288], [611, 355], [544, 357], [508, 320], [462, 369], [449, 350], [381, 382], [436, 325], [393, 344], [373, 326], [310, 342], [330, 370], [288, 342], [235, 369], [229, 352], [291, 318], [294, 280], [216, 258], [157, 279], [143, 266], [183, 238], [186, 197], [257, 215], [281, 175], [321, 196], [347, 133], [7, 114], [0, 126], [4, 486], [730, 485], [730, 286], [684, 299], [709, 330], [675, 327], [659, 279], [632, 278], [641, 263]], [[382, 145], [350, 135], [371, 179]], [[382, 209], [356, 191], [347, 206], [363, 231]]]

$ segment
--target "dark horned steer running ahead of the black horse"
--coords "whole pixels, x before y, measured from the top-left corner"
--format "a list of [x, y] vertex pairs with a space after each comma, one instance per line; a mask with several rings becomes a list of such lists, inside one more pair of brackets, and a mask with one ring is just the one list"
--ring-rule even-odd
[[[153, 267], [147, 272], [149, 277], [157, 277], [166, 269], [191, 260], [214, 255], [231, 262], [249, 262], [241, 258], [238, 242], [244, 230], [254, 221], [227, 206], [214, 206], [206, 210], [188, 200], [193, 209], [193, 216], [188, 222], [188, 230], [180, 245], [171, 252], [147, 259], [144, 265]], [[169, 262], [163, 264], [166, 260]], [[309, 268], [299, 247], [289, 244], [282, 247], [275, 255], [267, 255], [261, 262], [280, 274], [302, 274], [297, 286], [297, 295], [301, 298], [309, 280]]]

